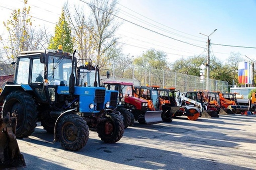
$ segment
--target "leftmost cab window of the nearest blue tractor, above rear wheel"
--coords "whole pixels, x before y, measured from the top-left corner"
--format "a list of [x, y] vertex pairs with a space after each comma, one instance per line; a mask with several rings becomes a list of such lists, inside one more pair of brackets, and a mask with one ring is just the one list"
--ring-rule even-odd
[[16, 78], [17, 84], [28, 84], [29, 63], [30, 63], [30, 59], [28, 57], [19, 59], [19, 65], [17, 67], [18, 72], [17, 72], [17, 78]]

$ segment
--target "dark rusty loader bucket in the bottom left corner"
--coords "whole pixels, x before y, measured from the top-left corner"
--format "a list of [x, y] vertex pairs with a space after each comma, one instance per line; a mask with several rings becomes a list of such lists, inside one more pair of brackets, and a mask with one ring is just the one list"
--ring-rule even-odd
[[15, 135], [16, 117], [0, 118], [0, 169], [20, 169], [26, 167]]

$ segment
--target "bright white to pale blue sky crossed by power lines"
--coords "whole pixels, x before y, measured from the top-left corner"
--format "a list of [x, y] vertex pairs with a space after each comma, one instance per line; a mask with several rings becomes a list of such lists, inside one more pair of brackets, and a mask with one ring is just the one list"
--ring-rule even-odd
[[[0, 4], [0, 35], [6, 35], [3, 21], [12, 10], [23, 7], [23, 0]], [[54, 34], [61, 8], [66, 0], [28, 0], [33, 26], [46, 26]], [[89, 0], [69, 0], [88, 11]], [[140, 56], [154, 48], [164, 51], [173, 62], [189, 56], [207, 56], [223, 63], [231, 52], [245, 61], [256, 60], [256, 0], [119, 0], [115, 16], [121, 26], [116, 32], [127, 56]], [[217, 29], [216, 31], [214, 31]], [[199, 33], [201, 32], [201, 34]], [[247, 57], [245, 57], [246, 55]]]

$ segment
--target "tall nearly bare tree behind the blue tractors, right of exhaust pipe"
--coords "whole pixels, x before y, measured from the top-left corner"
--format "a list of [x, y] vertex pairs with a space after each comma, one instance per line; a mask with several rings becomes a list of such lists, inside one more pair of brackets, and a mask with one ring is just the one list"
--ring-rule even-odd
[[108, 0], [90, 1], [91, 17], [88, 28], [93, 39], [93, 50], [95, 50], [95, 56], [91, 59], [99, 67], [104, 66], [116, 53], [114, 45], [118, 37], [115, 37], [114, 33], [120, 25], [114, 20], [114, 15], [117, 14], [116, 4], [116, 0], [112, 0], [111, 3]]

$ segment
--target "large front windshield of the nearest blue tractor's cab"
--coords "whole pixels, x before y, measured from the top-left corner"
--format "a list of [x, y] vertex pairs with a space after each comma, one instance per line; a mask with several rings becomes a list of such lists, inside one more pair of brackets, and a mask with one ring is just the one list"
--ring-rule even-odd
[[48, 83], [50, 85], [69, 85], [71, 69], [72, 60], [70, 58], [49, 56]]

